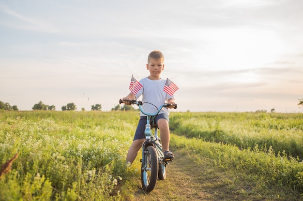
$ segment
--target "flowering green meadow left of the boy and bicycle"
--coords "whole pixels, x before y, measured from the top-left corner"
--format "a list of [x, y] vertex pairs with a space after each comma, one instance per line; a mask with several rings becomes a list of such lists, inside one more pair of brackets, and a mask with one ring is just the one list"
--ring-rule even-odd
[[[98, 112], [0, 114], [0, 200], [120, 198], [125, 158], [138, 115]], [[124, 178], [123, 178], [124, 177]]]

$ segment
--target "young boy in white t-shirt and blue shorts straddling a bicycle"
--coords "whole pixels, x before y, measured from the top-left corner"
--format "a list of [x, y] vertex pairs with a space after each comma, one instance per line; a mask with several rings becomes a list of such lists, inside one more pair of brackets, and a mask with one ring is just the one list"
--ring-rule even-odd
[[[142, 101], [150, 102], [155, 106], [159, 107], [166, 101], [170, 104], [175, 104], [175, 99], [173, 96], [168, 95], [163, 88], [165, 86], [166, 80], [160, 77], [161, 72], [164, 70], [164, 56], [160, 51], [152, 51], [148, 56], [148, 63], [146, 64], [147, 70], [150, 71], [150, 75], [139, 81], [143, 86], [136, 95], [134, 93], [129, 93], [125, 98], [123, 98], [123, 103], [130, 105], [128, 100], [137, 99], [142, 95]], [[151, 104], [143, 104], [143, 110], [148, 113], [155, 113], [157, 109]], [[171, 106], [170, 108], [172, 108]], [[174, 158], [174, 155], [169, 151], [169, 111], [167, 108], [162, 108], [159, 115], [155, 118], [158, 128], [160, 129], [162, 151], [165, 158]], [[143, 142], [145, 141], [144, 129], [146, 125], [146, 116], [140, 113], [140, 120], [136, 129], [134, 141], [130, 146], [126, 162], [130, 164], [135, 160], [139, 149], [141, 148]]]

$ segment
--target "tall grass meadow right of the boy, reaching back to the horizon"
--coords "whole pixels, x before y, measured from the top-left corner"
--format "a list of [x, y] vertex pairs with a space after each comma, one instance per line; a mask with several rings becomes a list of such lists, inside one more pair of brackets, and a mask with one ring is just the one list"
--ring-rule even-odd
[[272, 146], [276, 154], [303, 159], [303, 114], [179, 113], [170, 121], [179, 135], [240, 149]]

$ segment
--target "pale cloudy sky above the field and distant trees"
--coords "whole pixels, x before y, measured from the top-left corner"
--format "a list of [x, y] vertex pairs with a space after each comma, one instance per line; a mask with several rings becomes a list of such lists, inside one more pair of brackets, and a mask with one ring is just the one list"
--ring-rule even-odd
[[303, 112], [302, 0], [0, 0], [0, 100], [110, 111], [160, 50], [177, 112]]

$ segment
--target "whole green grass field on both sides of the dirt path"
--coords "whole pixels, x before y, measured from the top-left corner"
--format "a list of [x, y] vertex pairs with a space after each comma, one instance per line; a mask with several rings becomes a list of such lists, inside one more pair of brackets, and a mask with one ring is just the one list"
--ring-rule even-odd
[[[137, 112], [0, 112], [0, 163], [19, 154], [0, 179], [0, 200], [134, 200], [140, 163], [127, 168], [125, 158], [138, 119]], [[302, 114], [171, 113], [170, 122], [171, 148], [230, 178], [223, 193], [302, 199]]]

